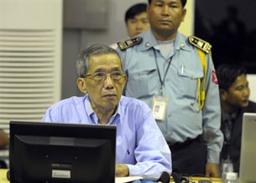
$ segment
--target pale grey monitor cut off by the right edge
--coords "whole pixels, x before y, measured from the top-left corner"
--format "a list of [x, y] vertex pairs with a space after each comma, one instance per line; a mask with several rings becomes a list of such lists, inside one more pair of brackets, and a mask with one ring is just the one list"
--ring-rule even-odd
[[256, 113], [243, 114], [240, 182], [256, 182]]

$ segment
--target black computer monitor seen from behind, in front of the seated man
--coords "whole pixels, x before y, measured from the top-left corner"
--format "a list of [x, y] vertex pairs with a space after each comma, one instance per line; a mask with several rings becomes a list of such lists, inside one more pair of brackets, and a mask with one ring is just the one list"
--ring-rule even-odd
[[115, 182], [116, 128], [11, 121], [11, 183]]

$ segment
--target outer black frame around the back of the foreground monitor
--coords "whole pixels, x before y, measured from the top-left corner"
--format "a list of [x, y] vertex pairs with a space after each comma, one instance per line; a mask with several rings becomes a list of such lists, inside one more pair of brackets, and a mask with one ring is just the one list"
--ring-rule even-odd
[[[10, 121], [10, 180], [13, 179], [15, 170], [21, 167], [15, 167], [15, 144], [14, 135], [37, 135], [54, 137], [75, 137], [75, 138], [96, 138], [107, 139], [112, 142], [112, 165], [109, 166], [111, 175], [109, 182], [114, 182], [115, 178], [115, 154], [116, 154], [116, 126], [115, 125], [84, 125], [67, 123], [47, 123], [47, 122], [28, 122], [28, 121]], [[17, 151], [17, 150], [16, 150]], [[17, 152], [16, 152], [17, 153]], [[106, 180], [107, 181], [107, 180]], [[56, 182], [58, 182], [56, 180]]]

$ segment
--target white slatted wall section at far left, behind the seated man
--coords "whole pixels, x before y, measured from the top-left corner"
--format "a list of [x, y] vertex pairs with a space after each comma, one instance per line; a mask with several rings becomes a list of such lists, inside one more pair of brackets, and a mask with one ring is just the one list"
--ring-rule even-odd
[[[62, 0], [0, 0], [0, 125], [60, 100]], [[0, 127], [1, 129], [2, 127]]]

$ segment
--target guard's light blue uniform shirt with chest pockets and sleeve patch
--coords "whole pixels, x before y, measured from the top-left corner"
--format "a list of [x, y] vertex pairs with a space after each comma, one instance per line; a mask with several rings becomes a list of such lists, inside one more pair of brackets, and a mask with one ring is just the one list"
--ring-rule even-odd
[[156, 62], [163, 79], [171, 58], [163, 88], [163, 96], [169, 101], [165, 121], [157, 120], [159, 128], [170, 143], [195, 139], [203, 133], [207, 143], [207, 161], [218, 163], [223, 137], [219, 91], [211, 56], [206, 54], [206, 100], [200, 110], [197, 78], [203, 79], [204, 73], [196, 47], [188, 42], [187, 37], [177, 33], [174, 48], [166, 57], [150, 28], [138, 36], [142, 37], [141, 43], [123, 51], [118, 48], [124, 60], [123, 71], [128, 74], [124, 94], [141, 99], [151, 107], [154, 94], [159, 94], [161, 88]]

